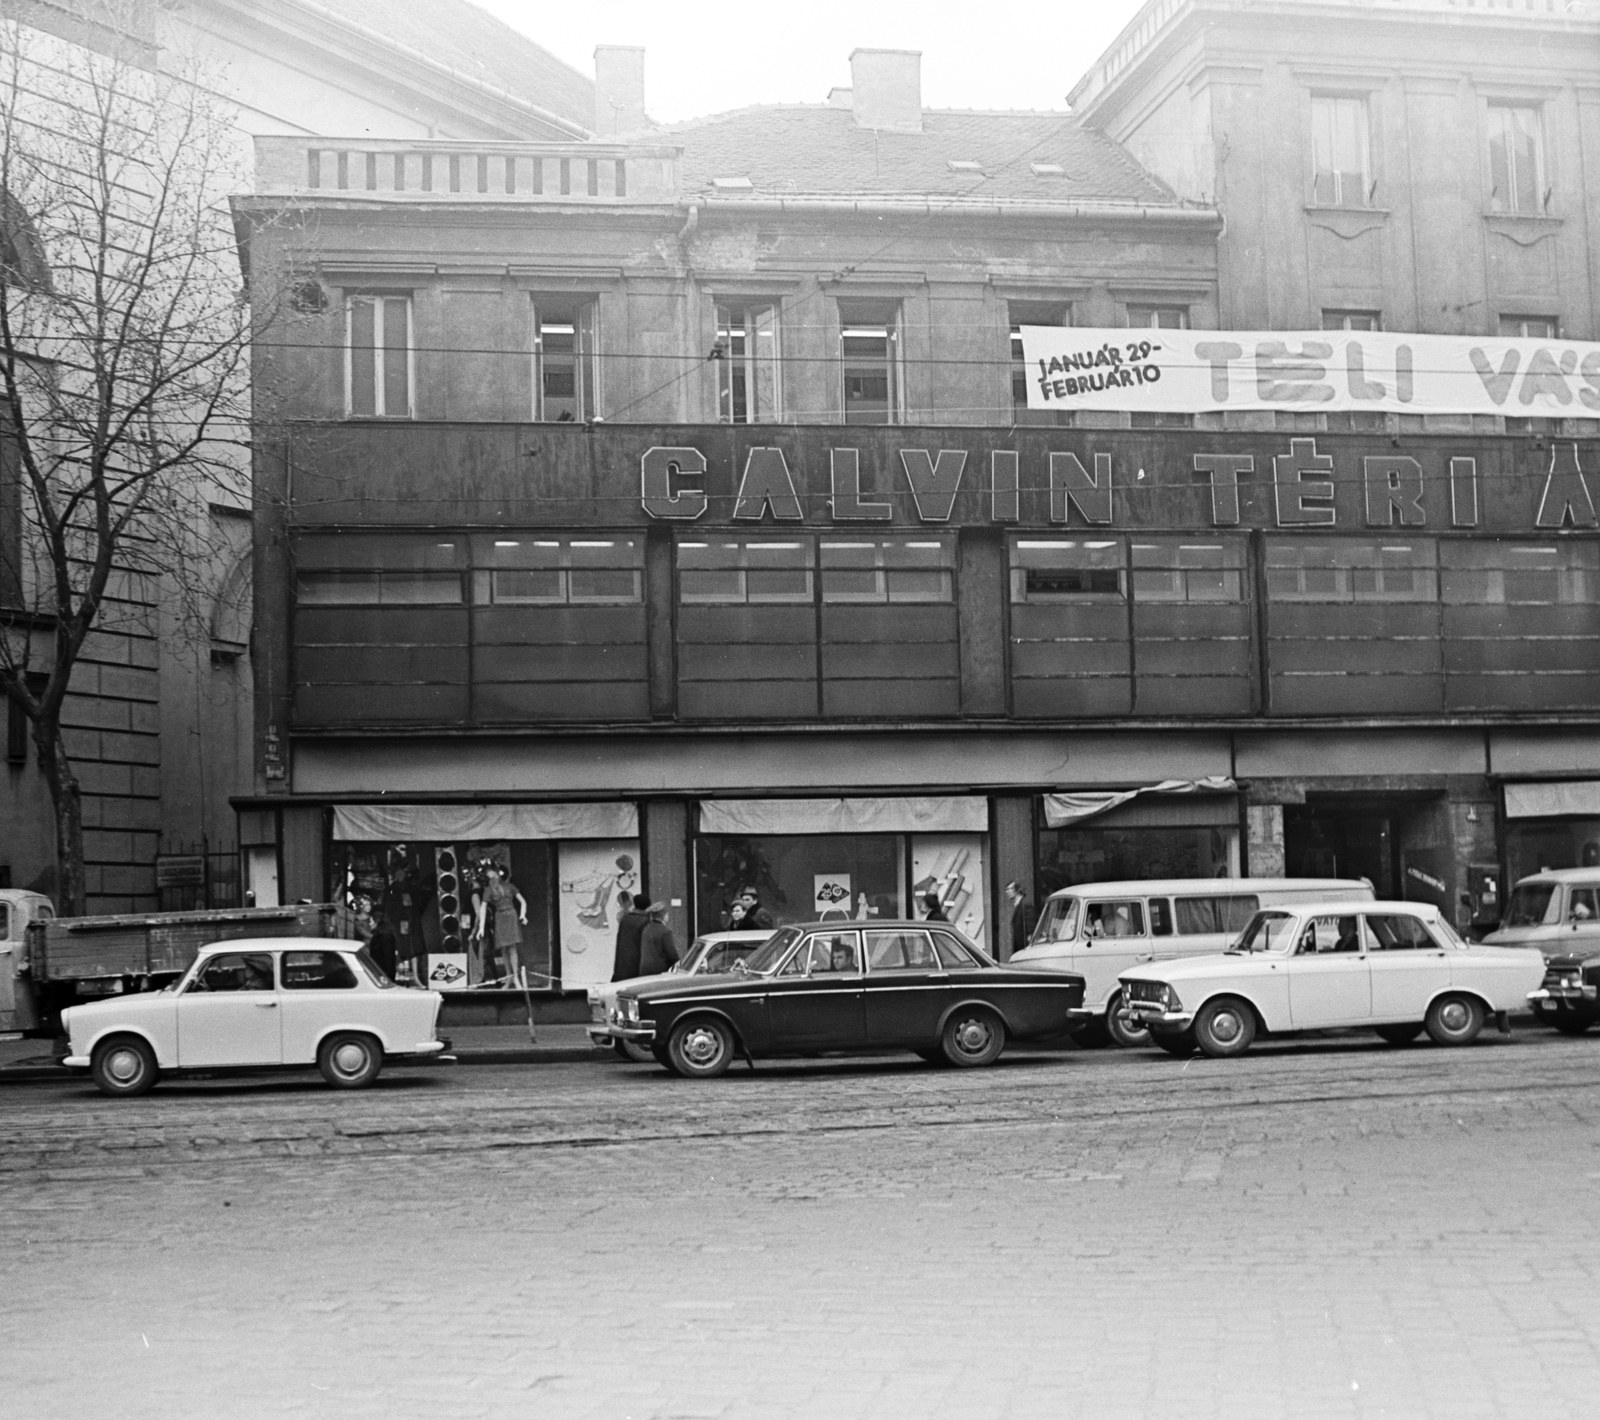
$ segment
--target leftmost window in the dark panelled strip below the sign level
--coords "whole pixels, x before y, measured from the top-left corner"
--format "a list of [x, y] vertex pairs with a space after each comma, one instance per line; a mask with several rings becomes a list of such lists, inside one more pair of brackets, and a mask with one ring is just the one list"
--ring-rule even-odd
[[461, 606], [461, 539], [429, 534], [304, 537], [294, 548], [301, 606]]

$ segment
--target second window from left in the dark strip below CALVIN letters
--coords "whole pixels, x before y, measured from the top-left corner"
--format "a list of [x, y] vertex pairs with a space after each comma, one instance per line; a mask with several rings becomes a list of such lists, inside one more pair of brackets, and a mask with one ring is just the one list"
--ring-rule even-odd
[[475, 537], [478, 606], [638, 606], [645, 544], [632, 536], [507, 534]]

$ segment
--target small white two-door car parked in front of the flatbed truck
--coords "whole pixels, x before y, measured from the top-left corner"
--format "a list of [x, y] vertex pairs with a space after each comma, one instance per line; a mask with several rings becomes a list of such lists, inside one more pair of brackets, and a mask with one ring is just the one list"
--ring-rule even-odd
[[358, 942], [214, 942], [176, 985], [62, 1011], [62, 1063], [86, 1068], [107, 1095], [144, 1094], [171, 1071], [299, 1065], [358, 1089], [384, 1060], [448, 1049], [435, 1030], [442, 999], [397, 987]]

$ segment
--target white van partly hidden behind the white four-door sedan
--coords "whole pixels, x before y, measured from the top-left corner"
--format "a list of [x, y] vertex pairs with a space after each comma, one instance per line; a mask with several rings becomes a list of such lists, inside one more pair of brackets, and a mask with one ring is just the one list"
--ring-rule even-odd
[[1083, 883], [1051, 892], [1027, 947], [1011, 961], [1083, 977], [1094, 1019], [1074, 1031], [1085, 1046], [1142, 1046], [1149, 1031], [1123, 1019], [1117, 977], [1141, 961], [1226, 951], [1256, 908], [1291, 902], [1371, 902], [1350, 878], [1166, 878]]

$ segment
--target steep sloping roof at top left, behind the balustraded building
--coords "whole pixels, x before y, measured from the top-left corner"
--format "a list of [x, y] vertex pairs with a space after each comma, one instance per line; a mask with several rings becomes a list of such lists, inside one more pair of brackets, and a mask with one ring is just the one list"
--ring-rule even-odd
[[594, 125], [594, 80], [469, 0], [315, 5], [573, 123]]

